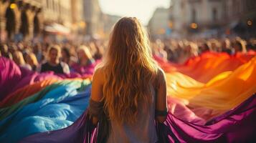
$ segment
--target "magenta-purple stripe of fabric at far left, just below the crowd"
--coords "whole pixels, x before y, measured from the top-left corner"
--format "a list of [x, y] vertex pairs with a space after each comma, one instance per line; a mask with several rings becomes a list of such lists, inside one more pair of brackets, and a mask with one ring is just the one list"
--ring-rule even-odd
[[[61, 79], [74, 79], [74, 78], [80, 78], [80, 79], [90, 78], [91, 79], [95, 65], [98, 64], [98, 62], [99, 61], [97, 61], [92, 66], [84, 67], [85, 68], [84, 73], [54, 74], [54, 72], [52, 71], [48, 71], [44, 73], [30, 71], [28, 69], [24, 69], [22, 67], [17, 66], [14, 63], [14, 61], [0, 57], [0, 93], [1, 93], [0, 107], [2, 107], [2, 104], [4, 104], [6, 100], [11, 99], [11, 97], [9, 96], [14, 96], [14, 92], [16, 92], [19, 89], [22, 90], [22, 88], [26, 86], [27, 88], [29, 88], [29, 85], [36, 84], [37, 82], [42, 82], [41, 85], [43, 84], [46, 85], [44, 80], [61, 80]], [[35, 85], [35, 87], [30, 87], [30, 88], [37, 88], [37, 86]], [[19, 92], [21, 92], [21, 90]], [[34, 92], [37, 91], [36, 89], [30, 89], [30, 90], [33, 90]], [[15, 94], [18, 94], [19, 92], [16, 92]], [[27, 95], [29, 94], [30, 92], [27, 92]], [[24, 97], [27, 97], [27, 96], [24, 96]], [[8, 99], [5, 99], [5, 98], [8, 98]]]

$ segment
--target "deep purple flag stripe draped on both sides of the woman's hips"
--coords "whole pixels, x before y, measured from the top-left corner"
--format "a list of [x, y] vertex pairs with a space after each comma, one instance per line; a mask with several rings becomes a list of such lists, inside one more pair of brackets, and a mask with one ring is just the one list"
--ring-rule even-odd
[[[21, 142], [89, 142], [93, 134], [87, 111], [70, 127], [34, 134]], [[256, 129], [256, 95], [235, 109], [212, 119], [205, 125], [194, 124], [168, 114], [165, 124], [157, 128], [160, 139], [168, 142], [252, 142]]]

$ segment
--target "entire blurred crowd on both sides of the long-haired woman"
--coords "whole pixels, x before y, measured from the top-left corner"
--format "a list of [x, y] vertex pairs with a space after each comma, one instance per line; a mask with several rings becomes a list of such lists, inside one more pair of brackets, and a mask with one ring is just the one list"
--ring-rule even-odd
[[[0, 56], [12, 59], [17, 65], [32, 71], [54, 71], [55, 74], [77, 72], [90, 74], [87, 67], [102, 59], [107, 41], [88, 41], [84, 44], [6, 43], [0, 44]], [[153, 55], [164, 61], [182, 64], [204, 52], [226, 52], [233, 55], [256, 50], [256, 39], [208, 39], [199, 41], [159, 40], [151, 41]]]

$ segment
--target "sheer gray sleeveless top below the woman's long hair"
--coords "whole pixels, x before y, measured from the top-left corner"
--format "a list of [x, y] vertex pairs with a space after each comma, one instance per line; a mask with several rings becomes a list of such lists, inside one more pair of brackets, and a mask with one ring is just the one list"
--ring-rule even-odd
[[[138, 108], [138, 119], [133, 125], [124, 124], [118, 126], [115, 122], [110, 121], [111, 131], [108, 143], [155, 143], [157, 142], [156, 126], [155, 126], [155, 107], [156, 107], [156, 91], [153, 86], [149, 86], [151, 94], [151, 103], [141, 101]], [[146, 106], [145, 106], [146, 105]]]

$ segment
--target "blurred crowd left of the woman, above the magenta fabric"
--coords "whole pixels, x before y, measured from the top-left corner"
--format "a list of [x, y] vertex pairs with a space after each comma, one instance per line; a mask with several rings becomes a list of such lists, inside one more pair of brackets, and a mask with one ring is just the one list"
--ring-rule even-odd
[[[86, 74], [84, 67], [92, 66], [103, 56], [105, 42], [90, 41], [85, 44], [7, 43], [0, 44], [0, 56], [12, 59], [17, 65], [32, 71], [54, 71]], [[90, 74], [90, 73], [88, 73]]]

